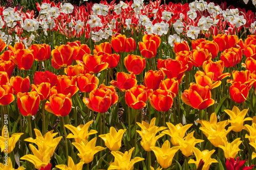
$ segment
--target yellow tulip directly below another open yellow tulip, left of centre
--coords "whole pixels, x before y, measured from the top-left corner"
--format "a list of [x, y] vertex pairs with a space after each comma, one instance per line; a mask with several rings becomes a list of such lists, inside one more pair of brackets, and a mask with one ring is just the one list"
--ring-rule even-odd
[[79, 154], [77, 154], [81, 161], [84, 163], [90, 163], [93, 161], [93, 156], [99, 152], [104, 150], [103, 147], [95, 147], [97, 137], [93, 138], [89, 142], [85, 140], [84, 142], [77, 143], [73, 142], [72, 144], [76, 147], [76, 149], [79, 151]]

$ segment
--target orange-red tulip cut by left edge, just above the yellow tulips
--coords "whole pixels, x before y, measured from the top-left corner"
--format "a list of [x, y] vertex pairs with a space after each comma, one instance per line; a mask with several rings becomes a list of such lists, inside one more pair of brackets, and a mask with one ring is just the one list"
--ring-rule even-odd
[[13, 88], [11, 85], [0, 86], [0, 105], [9, 105], [14, 101]]

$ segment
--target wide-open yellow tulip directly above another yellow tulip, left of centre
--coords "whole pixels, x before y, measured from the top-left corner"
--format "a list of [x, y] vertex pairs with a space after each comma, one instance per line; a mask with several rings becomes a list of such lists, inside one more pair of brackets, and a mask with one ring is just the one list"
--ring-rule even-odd
[[[86, 125], [79, 125], [77, 127], [74, 127], [72, 125], [65, 125], [66, 128], [68, 128], [73, 134], [69, 134], [67, 138], [74, 138], [75, 142], [80, 143], [83, 140], [88, 140], [89, 135], [93, 135], [98, 133], [96, 130], [90, 130], [88, 132], [88, 129], [90, 125], [93, 123], [93, 120], [88, 122]], [[84, 141], [83, 141], [84, 142]]]

